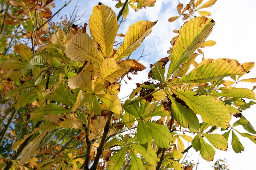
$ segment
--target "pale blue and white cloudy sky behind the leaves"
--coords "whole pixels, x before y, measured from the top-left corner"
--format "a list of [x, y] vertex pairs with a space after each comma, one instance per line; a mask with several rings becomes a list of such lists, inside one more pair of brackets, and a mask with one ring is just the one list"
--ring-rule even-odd
[[[124, 0], [122, 0], [123, 2]], [[86, 14], [81, 18], [81, 25], [88, 23], [93, 6], [98, 4], [98, 0], [80, 0], [78, 14]], [[101, 3], [110, 6], [116, 14], [120, 9], [115, 8], [117, 1], [100, 0]], [[184, 5], [189, 0], [157, 0], [153, 8], [146, 8], [135, 12], [131, 10], [128, 14], [127, 20], [122, 23], [118, 33], [125, 34], [128, 27], [140, 20], [156, 21], [152, 33], [145, 38], [142, 46], [138, 48], [131, 57], [138, 59], [142, 53], [143, 45], [145, 45], [144, 54], [150, 54], [140, 59], [140, 62], [147, 67], [145, 71], [132, 75], [132, 80], [128, 81], [128, 85], [122, 83], [119, 98], [123, 98], [131, 93], [136, 88], [135, 83], [146, 81], [149, 69], [149, 64], [157, 62], [160, 58], [167, 57], [167, 50], [171, 47], [170, 40], [177, 34], [173, 33], [174, 29], [179, 29], [183, 22], [178, 19], [173, 23], [169, 23], [168, 19], [177, 16], [176, 6], [181, 2]], [[207, 0], [204, 0], [204, 3]], [[56, 9], [62, 6], [64, 1], [55, 1]], [[70, 5], [61, 11], [61, 14], [71, 13], [76, 4], [72, 1]], [[253, 62], [256, 60], [255, 46], [256, 46], [256, 23], [253, 20], [253, 11], [256, 8], [256, 0], [218, 0], [214, 6], [207, 8], [211, 12], [211, 18], [215, 20], [215, 26], [212, 34], [207, 40], [214, 40], [217, 44], [213, 47], [206, 47], [204, 51], [205, 58], [231, 58], [237, 59], [240, 63]], [[201, 57], [198, 57], [201, 60]], [[256, 68], [253, 68], [249, 74], [244, 75], [243, 79], [256, 77]], [[236, 87], [253, 88], [253, 83], [240, 82]], [[252, 106], [243, 112], [243, 115], [251, 122], [253, 127], [256, 127], [256, 106]], [[232, 119], [231, 124], [237, 119]], [[240, 125], [241, 126], [241, 125]], [[238, 127], [237, 130], [245, 132], [243, 128]], [[239, 136], [239, 135], [238, 135]], [[252, 169], [255, 161], [256, 144], [249, 139], [239, 136], [241, 143], [244, 145], [245, 151], [242, 153], [235, 153], [231, 146], [231, 135], [229, 139], [229, 148], [225, 151], [216, 150], [214, 161], [217, 159], [227, 159], [230, 170], [247, 170]], [[191, 149], [193, 150], [193, 149]], [[188, 160], [198, 162], [198, 153], [191, 151]], [[211, 166], [214, 161], [207, 162], [200, 158], [198, 170], [212, 169]]]

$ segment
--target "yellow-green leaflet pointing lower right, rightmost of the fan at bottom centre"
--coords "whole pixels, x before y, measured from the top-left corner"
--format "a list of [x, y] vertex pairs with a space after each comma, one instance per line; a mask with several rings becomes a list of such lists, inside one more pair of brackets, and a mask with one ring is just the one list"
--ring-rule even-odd
[[148, 164], [153, 167], [157, 166], [157, 153], [155, 153], [153, 149], [153, 152], [151, 152], [151, 150], [149, 149], [151, 145], [148, 145], [147, 150], [139, 144], [131, 144], [131, 146], [134, 147], [134, 149], [137, 150], [143, 156], [143, 158], [145, 158]]

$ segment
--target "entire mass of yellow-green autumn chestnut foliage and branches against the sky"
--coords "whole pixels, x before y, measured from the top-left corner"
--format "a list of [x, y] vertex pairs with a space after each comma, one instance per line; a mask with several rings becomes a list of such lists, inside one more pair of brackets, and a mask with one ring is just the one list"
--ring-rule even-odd
[[[14, 30], [15, 34], [11, 39], [5, 24], [16, 19], [2, 23], [3, 31], [7, 31], [3, 39], [6, 52], [2, 53], [0, 64], [2, 107], [6, 114], [2, 119], [0, 166], [5, 170], [189, 169], [191, 164], [183, 166], [180, 161], [184, 153], [193, 147], [203, 159], [212, 161], [213, 147], [227, 150], [230, 132], [236, 153], [244, 150], [237, 134], [255, 143], [252, 134], [256, 131], [242, 115], [243, 110], [255, 104], [253, 100], [244, 101], [255, 99], [254, 89], [233, 85], [239, 81], [255, 82], [255, 78], [240, 79], [254, 63], [204, 57], [201, 63], [195, 62], [198, 55], [204, 55], [201, 48], [215, 44], [205, 41], [215, 21], [205, 17], [210, 13], [202, 9], [216, 0], [202, 2], [192, 0], [185, 7], [177, 5], [179, 16], [171, 17], [169, 22], [178, 17], [187, 22], [174, 31], [179, 35], [171, 40], [169, 57], [151, 65], [148, 81], [138, 83], [125, 102], [117, 97], [122, 78], [145, 69], [129, 56], [157, 22], [134, 23], [115, 48], [121, 16], [127, 17], [130, 7], [138, 10], [154, 6], [155, 1], [118, 2], [117, 17], [111, 8], [99, 3], [88, 23], [91, 37], [87, 24], [72, 25], [77, 20], [76, 8], [69, 20], [57, 26], [51, 22], [68, 3], [51, 14], [52, 1], [3, 2], [3, 17], [10, 10], [24, 20], [13, 23], [9, 34]], [[20, 13], [15, 14], [17, 11]], [[196, 12], [202, 17], [194, 17]], [[21, 34], [20, 28], [26, 33]], [[44, 30], [47, 31], [40, 32]], [[26, 44], [30, 48], [18, 44], [12, 54], [14, 39], [23, 40], [26, 34], [31, 40]], [[238, 120], [230, 125], [232, 115]], [[236, 130], [237, 125], [248, 133]], [[223, 132], [215, 133], [216, 129]], [[184, 140], [191, 145], [185, 148]]]

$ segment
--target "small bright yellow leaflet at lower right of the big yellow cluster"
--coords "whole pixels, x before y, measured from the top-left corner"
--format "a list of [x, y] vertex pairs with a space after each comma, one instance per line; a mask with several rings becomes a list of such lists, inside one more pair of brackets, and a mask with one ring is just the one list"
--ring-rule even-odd
[[113, 113], [121, 114], [122, 106], [120, 99], [116, 95], [111, 94], [96, 94], [99, 99], [111, 110]]

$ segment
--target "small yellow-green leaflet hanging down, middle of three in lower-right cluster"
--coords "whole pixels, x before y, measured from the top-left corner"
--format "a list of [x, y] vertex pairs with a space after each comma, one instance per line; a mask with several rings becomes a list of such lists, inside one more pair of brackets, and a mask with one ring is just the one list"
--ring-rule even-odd
[[199, 139], [201, 143], [200, 154], [202, 158], [207, 161], [212, 161], [215, 155], [214, 148], [211, 145], [207, 144], [202, 137], [200, 137]]

